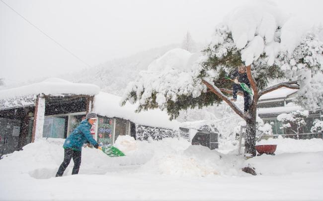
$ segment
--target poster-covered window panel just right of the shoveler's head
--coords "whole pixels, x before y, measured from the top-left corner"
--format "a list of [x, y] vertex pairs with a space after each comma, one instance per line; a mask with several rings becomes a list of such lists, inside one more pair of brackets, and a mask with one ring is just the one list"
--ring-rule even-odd
[[108, 147], [112, 145], [112, 118], [98, 118], [97, 142], [101, 147]]

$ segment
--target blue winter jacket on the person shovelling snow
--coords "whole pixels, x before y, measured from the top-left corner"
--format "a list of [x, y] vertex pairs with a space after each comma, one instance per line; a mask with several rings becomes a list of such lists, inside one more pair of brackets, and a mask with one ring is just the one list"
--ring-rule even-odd
[[93, 146], [97, 142], [92, 138], [90, 133], [92, 125], [87, 119], [81, 121], [81, 124], [72, 132], [72, 134], [65, 140], [64, 149], [70, 148], [72, 150], [81, 151], [84, 143], [89, 142]]

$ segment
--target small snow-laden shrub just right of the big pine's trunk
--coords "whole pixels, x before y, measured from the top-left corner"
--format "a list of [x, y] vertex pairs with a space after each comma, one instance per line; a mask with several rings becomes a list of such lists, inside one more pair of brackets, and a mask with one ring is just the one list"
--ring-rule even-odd
[[282, 113], [277, 116], [277, 120], [282, 122], [281, 127], [287, 130], [291, 130], [296, 134], [301, 133], [301, 128], [306, 126], [305, 120], [309, 117], [309, 111], [294, 111], [291, 113]]

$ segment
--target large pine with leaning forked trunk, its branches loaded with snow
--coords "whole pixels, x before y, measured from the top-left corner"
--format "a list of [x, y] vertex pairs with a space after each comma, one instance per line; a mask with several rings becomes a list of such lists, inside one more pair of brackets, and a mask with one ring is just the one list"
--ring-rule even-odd
[[[266, 2], [234, 10], [215, 28], [211, 43], [199, 53], [175, 49], [165, 53], [128, 85], [123, 103], [139, 102], [137, 111], [160, 108], [170, 119], [179, 110], [225, 101], [246, 122], [245, 155], [255, 155], [256, 108], [259, 98], [281, 87], [300, 89], [302, 104], [321, 106], [323, 43], [315, 31], [285, 20]], [[292, 26], [294, 25], [294, 26]], [[245, 65], [253, 97], [247, 113], [230, 100], [232, 83], [225, 79]], [[268, 82], [286, 82], [267, 87]], [[321, 88], [319, 87], [321, 85]]]

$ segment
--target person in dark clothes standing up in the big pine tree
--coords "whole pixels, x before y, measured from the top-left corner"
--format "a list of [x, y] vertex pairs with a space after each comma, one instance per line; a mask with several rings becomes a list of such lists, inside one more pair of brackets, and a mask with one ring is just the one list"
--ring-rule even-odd
[[250, 95], [242, 89], [239, 83], [245, 83], [250, 88], [250, 82], [247, 77], [246, 67], [241, 65], [238, 69], [231, 75], [231, 78], [235, 81], [233, 84], [233, 98], [231, 101], [237, 101], [238, 90], [243, 92], [244, 99], [244, 112], [247, 112], [250, 106], [251, 97]]

